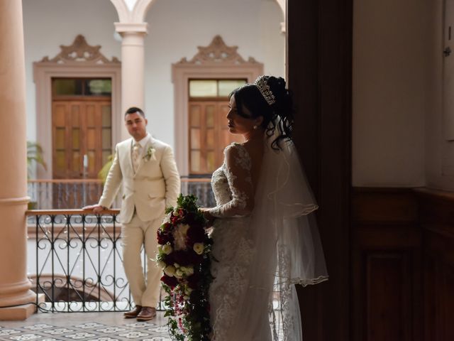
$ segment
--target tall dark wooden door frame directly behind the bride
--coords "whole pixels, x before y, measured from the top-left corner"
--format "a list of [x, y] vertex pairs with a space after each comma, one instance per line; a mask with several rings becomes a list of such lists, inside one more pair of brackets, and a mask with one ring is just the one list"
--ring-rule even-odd
[[298, 288], [304, 340], [350, 341], [353, 0], [287, 0], [295, 144], [320, 205], [329, 281]]

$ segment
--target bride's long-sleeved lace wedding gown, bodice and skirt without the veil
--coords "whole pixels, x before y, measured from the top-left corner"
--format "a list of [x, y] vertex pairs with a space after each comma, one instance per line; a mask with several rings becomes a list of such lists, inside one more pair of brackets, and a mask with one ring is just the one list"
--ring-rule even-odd
[[214, 341], [232, 341], [233, 323], [240, 315], [239, 300], [248, 286], [248, 269], [254, 254], [248, 239], [254, 190], [250, 180], [251, 161], [240, 144], [231, 144], [224, 151], [221, 168], [211, 178], [217, 206], [210, 210], [215, 217], [210, 286], [211, 323]]

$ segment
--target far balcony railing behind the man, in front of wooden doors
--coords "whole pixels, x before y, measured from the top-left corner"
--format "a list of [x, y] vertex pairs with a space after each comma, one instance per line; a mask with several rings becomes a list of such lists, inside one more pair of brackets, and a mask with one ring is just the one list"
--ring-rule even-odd
[[[79, 209], [98, 202], [103, 190], [101, 180], [97, 179], [50, 179], [28, 180], [29, 205], [32, 210]], [[192, 193], [199, 198], [199, 205], [213, 207], [214, 195], [209, 178], [182, 178], [182, 193]], [[121, 193], [117, 195], [112, 207], [120, 207]]]

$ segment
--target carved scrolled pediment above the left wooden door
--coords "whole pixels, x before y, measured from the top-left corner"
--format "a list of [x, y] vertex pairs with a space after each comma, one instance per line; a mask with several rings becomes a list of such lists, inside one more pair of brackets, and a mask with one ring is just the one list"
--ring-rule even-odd
[[85, 64], [120, 63], [117, 58], [114, 57], [112, 58], [112, 60], [109, 60], [101, 52], [99, 52], [101, 45], [88, 45], [87, 40], [85, 40], [82, 34], [79, 34], [79, 36], [74, 39], [72, 45], [60, 45], [60, 49], [60, 53], [57, 54], [54, 58], [49, 59], [49, 57], [46, 56], [40, 61], [58, 64], [81, 62]]

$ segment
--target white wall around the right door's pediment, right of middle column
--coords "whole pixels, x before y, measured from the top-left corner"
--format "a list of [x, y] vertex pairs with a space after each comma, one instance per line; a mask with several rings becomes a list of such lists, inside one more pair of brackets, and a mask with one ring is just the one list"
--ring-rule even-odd
[[238, 45], [243, 58], [264, 63], [265, 73], [284, 75], [282, 11], [275, 0], [156, 0], [146, 17], [145, 109], [150, 131], [173, 145], [172, 63], [191, 59], [197, 46], [217, 34]]

